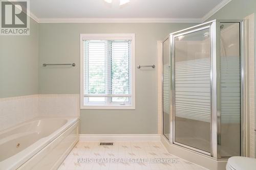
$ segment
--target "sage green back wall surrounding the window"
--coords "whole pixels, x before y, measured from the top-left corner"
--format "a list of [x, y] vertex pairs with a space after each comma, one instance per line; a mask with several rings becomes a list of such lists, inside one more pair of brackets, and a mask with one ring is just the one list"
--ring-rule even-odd
[[[39, 93], [80, 92], [81, 33], [135, 33], [136, 65], [157, 65], [157, 41], [196, 23], [40, 23]], [[42, 63], [76, 63], [71, 68]], [[135, 110], [81, 110], [82, 134], [157, 134], [157, 69], [136, 69]]]

